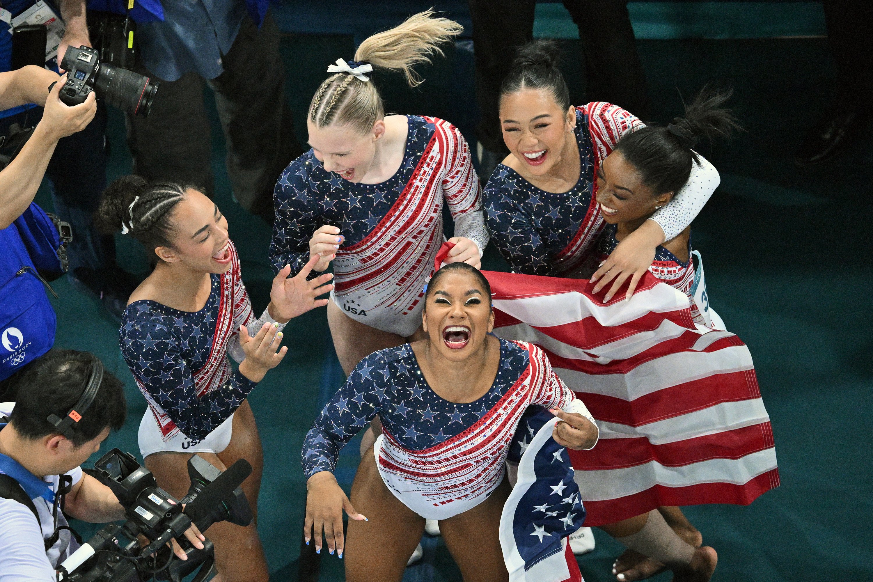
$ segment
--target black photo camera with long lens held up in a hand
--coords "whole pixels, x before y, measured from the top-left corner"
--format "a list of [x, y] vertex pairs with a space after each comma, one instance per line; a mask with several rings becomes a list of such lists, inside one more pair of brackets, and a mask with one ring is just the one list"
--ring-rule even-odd
[[133, 71], [100, 62], [100, 52], [87, 46], [67, 47], [60, 68], [67, 72], [60, 100], [69, 106], [84, 103], [88, 93], [131, 115], [148, 116], [158, 82]]

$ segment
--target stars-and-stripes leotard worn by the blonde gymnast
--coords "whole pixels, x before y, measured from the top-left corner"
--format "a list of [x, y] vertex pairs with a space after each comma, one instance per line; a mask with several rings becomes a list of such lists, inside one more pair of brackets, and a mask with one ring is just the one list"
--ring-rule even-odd
[[455, 236], [488, 243], [481, 188], [470, 148], [450, 123], [407, 116], [397, 173], [379, 184], [327, 172], [313, 151], [292, 161], [276, 184], [270, 261], [292, 275], [309, 259], [309, 239], [324, 224], [345, 236], [333, 260], [333, 301], [347, 315], [409, 337], [421, 325], [423, 285], [443, 244], [443, 200]]

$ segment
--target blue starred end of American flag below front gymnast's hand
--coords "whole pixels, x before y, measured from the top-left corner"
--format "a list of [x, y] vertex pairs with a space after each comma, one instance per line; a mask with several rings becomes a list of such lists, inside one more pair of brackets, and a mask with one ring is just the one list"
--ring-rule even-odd
[[552, 438], [558, 419], [529, 407], [507, 461], [516, 479], [500, 517], [500, 547], [510, 582], [581, 582], [568, 544], [585, 508], [567, 454]]

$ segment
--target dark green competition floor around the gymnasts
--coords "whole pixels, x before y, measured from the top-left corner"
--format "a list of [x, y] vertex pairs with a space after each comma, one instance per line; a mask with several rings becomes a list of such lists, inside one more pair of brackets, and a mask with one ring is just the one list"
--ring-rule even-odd
[[[567, 42], [568, 54], [577, 45]], [[707, 82], [734, 86], [733, 106], [747, 134], [704, 153], [722, 186], [694, 223], [695, 247], [706, 262], [712, 305], [750, 347], [773, 421], [782, 486], [750, 507], [691, 507], [687, 515], [718, 550], [714, 580], [873, 579], [868, 525], [870, 471], [870, 315], [864, 289], [870, 266], [873, 149], [870, 139], [818, 168], [791, 161], [795, 144], [830, 97], [834, 72], [822, 39], [641, 41], [655, 118], [680, 113], [677, 88], [688, 97]], [[282, 44], [288, 98], [298, 127], [321, 71], [351, 55], [346, 37], [287, 37]], [[452, 120], [471, 138], [476, 119], [469, 43], [426, 68], [416, 91], [391, 79], [383, 86], [388, 111], [428, 113]], [[578, 63], [566, 67], [575, 101], [582, 102]], [[244, 280], [256, 310], [264, 307], [272, 273], [265, 261], [270, 233], [230, 197], [223, 144], [213, 116], [217, 202], [230, 221], [243, 258]], [[124, 124], [113, 112], [110, 178], [129, 171]], [[301, 141], [306, 140], [299, 134]], [[50, 207], [42, 192], [38, 201]], [[145, 274], [141, 248], [119, 237], [121, 263]], [[493, 252], [486, 265], [502, 268]], [[145, 402], [120, 357], [116, 325], [92, 298], [54, 284], [60, 300], [58, 346], [90, 350], [127, 385], [127, 424], [104, 450], [138, 454], [136, 431]], [[258, 528], [272, 580], [294, 580], [305, 483], [299, 451], [320, 401], [340, 386], [323, 310], [286, 330], [288, 356], [251, 394], [265, 448]], [[357, 447], [342, 456], [340, 482], [351, 483]], [[605, 582], [621, 551], [597, 531], [597, 549], [581, 558], [589, 581]], [[459, 580], [438, 539], [426, 540], [426, 560], [408, 580]], [[471, 540], [475, 543], [475, 540]], [[322, 580], [343, 579], [340, 560], [325, 552]], [[662, 574], [658, 580], [669, 579]]]

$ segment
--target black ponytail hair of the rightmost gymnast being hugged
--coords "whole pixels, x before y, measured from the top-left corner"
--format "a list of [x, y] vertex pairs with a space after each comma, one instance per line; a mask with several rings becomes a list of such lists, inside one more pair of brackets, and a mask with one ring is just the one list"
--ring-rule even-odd
[[677, 117], [667, 127], [648, 125], [625, 134], [615, 151], [636, 168], [654, 195], [676, 193], [688, 181], [692, 163], [698, 162], [692, 147], [700, 140], [729, 138], [742, 129], [731, 110], [723, 107], [732, 94], [732, 89], [704, 87], [685, 106], [684, 117]]

